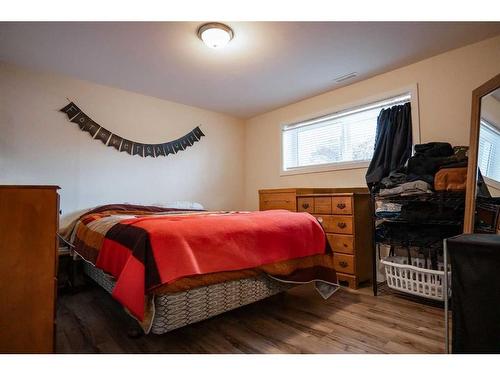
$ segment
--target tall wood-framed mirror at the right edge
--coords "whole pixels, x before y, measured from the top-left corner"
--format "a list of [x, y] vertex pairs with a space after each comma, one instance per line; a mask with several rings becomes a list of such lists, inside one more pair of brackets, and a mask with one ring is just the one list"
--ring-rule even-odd
[[464, 233], [500, 234], [500, 74], [472, 92]]

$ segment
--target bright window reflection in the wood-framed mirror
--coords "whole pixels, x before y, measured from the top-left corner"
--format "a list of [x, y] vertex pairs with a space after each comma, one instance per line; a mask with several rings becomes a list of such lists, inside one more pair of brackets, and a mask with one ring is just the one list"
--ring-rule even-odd
[[481, 119], [478, 166], [483, 176], [500, 181], [500, 131]]

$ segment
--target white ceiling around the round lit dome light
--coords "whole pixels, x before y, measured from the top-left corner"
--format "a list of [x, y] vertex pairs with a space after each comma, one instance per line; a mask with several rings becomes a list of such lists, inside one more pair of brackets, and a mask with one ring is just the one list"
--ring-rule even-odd
[[2, 22], [0, 60], [248, 118], [500, 34], [500, 22], [228, 22], [234, 39], [213, 50], [200, 24]]

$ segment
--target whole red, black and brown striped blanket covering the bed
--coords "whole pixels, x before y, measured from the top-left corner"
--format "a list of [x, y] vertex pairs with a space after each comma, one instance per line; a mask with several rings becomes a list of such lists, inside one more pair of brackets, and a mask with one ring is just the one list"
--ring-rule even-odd
[[113, 297], [139, 321], [156, 293], [265, 272], [336, 284], [321, 226], [307, 213], [207, 212], [107, 205], [65, 233], [82, 258], [116, 278]]

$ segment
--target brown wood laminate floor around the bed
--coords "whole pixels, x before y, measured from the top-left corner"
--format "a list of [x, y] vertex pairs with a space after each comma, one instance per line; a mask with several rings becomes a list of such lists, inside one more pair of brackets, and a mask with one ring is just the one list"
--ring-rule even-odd
[[130, 318], [92, 286], [58, 301], [58, 353], [443, 353], [443, 309], [369, 288], [324, 301], [311, 285], [164, 335], [127, 336]]

